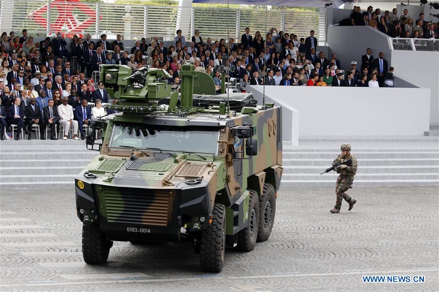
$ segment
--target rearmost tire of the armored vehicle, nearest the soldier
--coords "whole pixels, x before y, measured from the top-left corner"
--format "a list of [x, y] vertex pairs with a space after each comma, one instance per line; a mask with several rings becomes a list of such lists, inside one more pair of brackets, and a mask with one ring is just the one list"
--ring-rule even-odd
[[259, 229], [257, 241], [266, 241], [272, 233], [274, 213], [276, 212], [276, 194], [271, 184], [264, 184], [264, 191], [259, 198]]

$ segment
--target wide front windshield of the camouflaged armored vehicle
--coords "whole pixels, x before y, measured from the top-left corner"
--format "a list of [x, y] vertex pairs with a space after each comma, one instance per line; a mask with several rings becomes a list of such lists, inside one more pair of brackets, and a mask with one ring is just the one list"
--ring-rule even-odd
[[[199, 127], [198, 127], [199, 128]], [[157, 148], [218, 155], [218, 128], [115, 124], [110, 147]]]

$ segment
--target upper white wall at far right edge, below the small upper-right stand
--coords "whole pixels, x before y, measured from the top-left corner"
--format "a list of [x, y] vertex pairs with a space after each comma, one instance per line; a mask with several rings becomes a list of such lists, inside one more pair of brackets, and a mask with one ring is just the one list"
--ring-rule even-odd
[[398, 77], [431, 88], [430, 123], [439, 123], [439, 52], [394, 50], [392, 64]]

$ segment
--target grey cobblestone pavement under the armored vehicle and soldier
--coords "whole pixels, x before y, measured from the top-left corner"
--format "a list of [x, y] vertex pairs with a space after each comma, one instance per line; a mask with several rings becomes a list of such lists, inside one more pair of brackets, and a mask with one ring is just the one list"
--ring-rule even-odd
[[[354, 188], [330, 214], [334, 188], [283, 188], [270, 239], [199, 270], [185, 244], [115, 242], [87, 266], [73, 188], [1, 191], [0, 291], [438, 291], [438, 187]], [[362, 275], [424, 275], [365, 284]]]

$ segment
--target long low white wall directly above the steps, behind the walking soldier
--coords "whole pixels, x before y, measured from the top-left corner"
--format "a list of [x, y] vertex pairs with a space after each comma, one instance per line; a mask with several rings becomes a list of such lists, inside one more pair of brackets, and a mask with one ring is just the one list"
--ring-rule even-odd
[[[251, 90], [261, 103], [262, 86]], [[265, 94], [300, 112], [299, 136], [422, 136], [429, 130], [430, 89], [266, 86]]]

